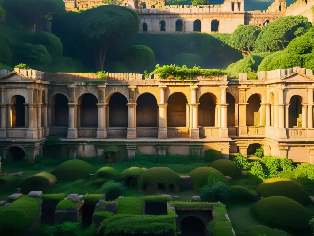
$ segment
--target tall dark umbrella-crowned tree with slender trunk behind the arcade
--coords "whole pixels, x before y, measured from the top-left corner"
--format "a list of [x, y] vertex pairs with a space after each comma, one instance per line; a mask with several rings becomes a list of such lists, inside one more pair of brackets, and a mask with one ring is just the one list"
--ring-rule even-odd
[[117, 5], [103, 5], [80, 13], [78, 20], [82, 34], [93, 46], [97, 70], [104, 69], [108, 47], [114, 47], [123, 38], [138, 33], [138, 15], [133, 9]]

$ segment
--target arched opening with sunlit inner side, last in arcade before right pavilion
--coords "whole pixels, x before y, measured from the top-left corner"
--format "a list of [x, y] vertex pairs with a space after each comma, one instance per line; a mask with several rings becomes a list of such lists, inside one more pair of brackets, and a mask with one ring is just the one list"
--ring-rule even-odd
[[246, 126], [259, 125], [259, 109], [261, 107], [260, 95], [255, 93], [249, 97], [246, 105]]

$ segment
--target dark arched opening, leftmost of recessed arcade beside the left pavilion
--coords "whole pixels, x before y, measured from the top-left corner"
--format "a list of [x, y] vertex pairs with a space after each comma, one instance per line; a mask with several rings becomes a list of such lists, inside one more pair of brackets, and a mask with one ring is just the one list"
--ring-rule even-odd
[[66, 126], [69, 123], [69, 100], [62, 93], [57, 93], [51, 98], [51, 124], [52, 126]]

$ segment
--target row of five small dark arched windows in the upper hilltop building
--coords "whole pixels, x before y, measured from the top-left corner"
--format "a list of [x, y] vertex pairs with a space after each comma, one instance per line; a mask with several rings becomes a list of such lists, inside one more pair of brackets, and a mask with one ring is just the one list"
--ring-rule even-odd
[[[148, 25], [147, 23], [143, 23], [142, 25], [143, 32], [148, 31]], [[159, 22], [159, 31], [163, 32], [166, 31], [166, 22], [164, 20], [161, 20]], [[184, 31], [184, 24], [181, 19], [176, 20], [176, 31]], [[202, 31], [202, 22], [201, 20], [194, 20], [193, 22], [193, 31], [194, 32], [201, 32]], [[219, 20], [212, 20], [211, 26], [210, 26], [211, 32], [218, 32], [219, 31]]]

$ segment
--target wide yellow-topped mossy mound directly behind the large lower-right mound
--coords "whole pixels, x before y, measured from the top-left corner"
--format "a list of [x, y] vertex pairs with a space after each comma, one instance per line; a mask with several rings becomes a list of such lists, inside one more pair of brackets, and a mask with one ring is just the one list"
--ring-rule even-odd
[[283, 178], [272, 178], [265, 180], [256, 188], [256, 192], [262, 197], [284, 196], [291, 198], [302, 205], [310, 202], [309, 194], [295, 181]]

